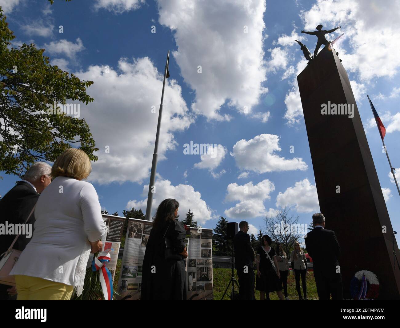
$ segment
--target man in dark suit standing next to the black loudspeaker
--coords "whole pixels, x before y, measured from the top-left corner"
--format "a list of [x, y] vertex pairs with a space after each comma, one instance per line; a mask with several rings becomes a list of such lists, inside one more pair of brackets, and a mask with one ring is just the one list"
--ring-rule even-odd
[[233, 238], [235, 251], [235, 268], [239, 278], [240, 300], [254, 300], [254, 250], [247, 234], [249, 225], [246, 221], [239, 223], [239, 232]]

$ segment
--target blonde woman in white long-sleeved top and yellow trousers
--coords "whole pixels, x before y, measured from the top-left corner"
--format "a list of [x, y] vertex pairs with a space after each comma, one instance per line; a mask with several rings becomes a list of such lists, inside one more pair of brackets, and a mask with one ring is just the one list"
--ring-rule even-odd
[[17, 300], [69, 300], [80, 295], [90, 251], [102, 249], [106, 232], [96, 190], [89, 182], [92, 167], [80, 149], [65, 150], [52, 167], [53, 182], [40, 194], [35, 232], [10, 272]]

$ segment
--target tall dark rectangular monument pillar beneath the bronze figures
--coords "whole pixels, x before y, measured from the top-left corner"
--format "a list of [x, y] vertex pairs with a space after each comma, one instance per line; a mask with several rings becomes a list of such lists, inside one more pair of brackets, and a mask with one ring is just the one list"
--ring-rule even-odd
[[[400, 268], [397, 263], [394, 268], [393, 228], [346, 70], [328, 45], [297, 81], [320, 210], [341, 247], [344, 298], [350, 299], [354, 274], [369, 270], [378, 276], [378, 299], [398, 300]], [[336, 114], [329, 110], [335, 106]], [[352, 107], [354, 116], [349, 117]], [[331, 114], [322, 114], [324, 108]], [[345, 108], [347, 114], [337, 114]]]

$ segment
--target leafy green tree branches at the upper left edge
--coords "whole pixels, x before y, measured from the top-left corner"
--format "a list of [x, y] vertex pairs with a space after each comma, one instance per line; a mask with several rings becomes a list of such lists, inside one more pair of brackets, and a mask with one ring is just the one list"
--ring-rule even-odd
[[58, 106], [93, 102], [86, 94], [93, 82], [50, 65], [34, 44], [12, 47], [14, 38], [0, 7], [0, 171], [22, 177], [33, 162], [54, 162], [72, 144], [97, 160], [88, 124]]

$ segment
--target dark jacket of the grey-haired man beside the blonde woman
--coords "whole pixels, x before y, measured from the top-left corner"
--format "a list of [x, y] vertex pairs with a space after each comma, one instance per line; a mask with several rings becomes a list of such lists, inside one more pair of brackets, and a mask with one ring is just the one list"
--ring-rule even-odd
[[[39, 194], [32, 186], [24, 181], [17, 184], [0, 200], [0, 223], [24, 224], [33, 206], [38, 201]], [[35, 223], [35, 215], [32, 213], [27, 222], [32, 224], [32, 233]], [[0, 254], [8, 250], [15, 235], [4, 235], [0, 238]], [[32, 238], [32, 236], [31, 236]], [[31, 238], [20, 236], [14, 244], [14, 249], [24, 250]]]

